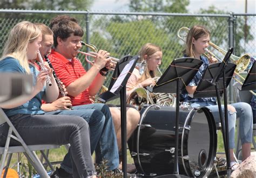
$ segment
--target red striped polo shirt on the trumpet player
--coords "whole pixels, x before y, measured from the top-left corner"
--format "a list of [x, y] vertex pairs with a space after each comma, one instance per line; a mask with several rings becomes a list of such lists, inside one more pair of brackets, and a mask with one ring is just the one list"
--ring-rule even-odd
[[[82, 63], [77, 58], [73, 58], [71, 61], [69, 61], [54, 49], [52, 49], [51, 54], [48, 55], [48, 58], [51, 61], [58, 79], [62, 81], [66, 87], [86, 74]], [[88, 89], [84, 90], [76, 97], [70, 95], [68, 96], [71, 98], [73, 106], [91, 104]]]

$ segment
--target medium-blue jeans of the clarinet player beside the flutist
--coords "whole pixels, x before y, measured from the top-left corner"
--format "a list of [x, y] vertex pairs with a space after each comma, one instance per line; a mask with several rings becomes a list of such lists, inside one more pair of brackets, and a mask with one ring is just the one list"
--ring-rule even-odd
[[[73, 106], [73, 110], [48, 112], [50, 115], [72, 115], [83, 117], [90, 127], [91, 154], [96, 153], [96, 163], [107, 160], [109, 170], [119, 165], [116, 133], [109, 107], [105, 104], [86, 104]], [[71, 173], [70, 151], [65, 155], [61, 167]]]

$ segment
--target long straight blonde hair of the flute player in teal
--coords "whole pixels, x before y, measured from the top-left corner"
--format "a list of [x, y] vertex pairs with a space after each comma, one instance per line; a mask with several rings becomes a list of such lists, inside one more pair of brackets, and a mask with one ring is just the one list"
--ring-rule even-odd
[[26, 73], [30, 73], [29, 61], [26, 55], [29, 42], [33, 42], [41, 35], [39, 27], [31, 22], [23, 21], [16, 24], [10, 31], [5, 42], [3, 56], [0, 60], [10, 56], [19, 61]]

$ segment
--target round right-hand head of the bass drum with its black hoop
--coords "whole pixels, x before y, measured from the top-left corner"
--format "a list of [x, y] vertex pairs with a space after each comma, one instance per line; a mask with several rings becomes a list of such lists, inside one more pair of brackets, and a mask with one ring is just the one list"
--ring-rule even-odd
[[[215, 121], [208, 108], [199, 108], [187, 119], [181, 140], [181, 156], [185, 172], [189, 176], [207, 176], [210, 174], [217, 149]], [[188, 158], [188, 159], [187, 159]]]

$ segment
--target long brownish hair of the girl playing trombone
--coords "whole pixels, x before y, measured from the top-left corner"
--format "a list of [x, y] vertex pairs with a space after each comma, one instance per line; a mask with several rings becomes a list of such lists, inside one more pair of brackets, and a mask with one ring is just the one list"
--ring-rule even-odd
[[206, 29], [206, 27], [201, 25], [194, 25], [187, 34], [186, 39], [186, 49], [185, 54], [188, 57], [194, 58], [196, 55], [194, 54], [194, 45], [193, 45], [193, 38], [197, 40], [198, 38], [204, 37], [206, 35], [211, 35], [210, 31]]

